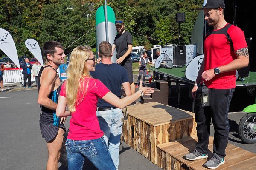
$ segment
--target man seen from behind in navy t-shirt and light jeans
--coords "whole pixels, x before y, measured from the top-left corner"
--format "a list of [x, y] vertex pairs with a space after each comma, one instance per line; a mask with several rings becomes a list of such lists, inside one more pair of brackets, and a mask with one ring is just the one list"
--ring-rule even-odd
[[[99, 44], [99, 57], [101, 64], [95, 66], [95, 71], [90, 74], [93, 78], [99, 79], [113, 94], [121, 98], [121, 88], [123, 86], [125, 95], [131, 95], [128, 74], [121, 65], [111, 62], [113, 55], [112, 46], [109, 42], [103, 41]], [[123, 113], [122, 109], [98, 100], [97, 117], [99, 119], [100, 129], [104, 132], [104, 139], [108, 145], [111, 158], [115, 164], [116, 170], [119, 165], [119, 146], [122, 134]]]

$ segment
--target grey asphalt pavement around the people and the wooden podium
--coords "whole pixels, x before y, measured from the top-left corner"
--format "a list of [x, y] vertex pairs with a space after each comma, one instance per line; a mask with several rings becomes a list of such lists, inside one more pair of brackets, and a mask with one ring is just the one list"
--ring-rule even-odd
[[[48, 156], [46, 142], [41, 137], [39, 128], [40, 108], [37, 103], [38, 90], [35, 83], [32, 84], [31, 89], [25, 90], [20, 88], [19, 83], [4, 85], [4, 88], [7, 92], [0, 93], [0, 170], [44, 170]], [[190, 104], [187, 102], [189, 99], [186, 95], [188, 91], [189, 89], [185, 86], [181, 88], [180, 105], [177, 105], [177, 94], [173, 88], [171, 103], [189, 110]], [[237, 91], [236, 93], [237, 96], [241, 95]], [[248, 102], [245, 99], [239, 101], [242, 106], [244, 102], [245, 104]], [[239, 121], [244, 114], [242, 112], [229, 114], [229, 143], [256, 153], [256, 144], [244, 144], [237, 133]], [[70, 117], [65, 122], [67, 129], [69, 120]], [[211, 136], [213, 134], [214, 128], [211, 127]], [[160, 170], [122, 141], [119, 169]], [[59, 164], [59, 170], [67, 170], [67, 167]], [[95, 170], [95, 168], [87, 161], [84, 164], [84, 170]]]

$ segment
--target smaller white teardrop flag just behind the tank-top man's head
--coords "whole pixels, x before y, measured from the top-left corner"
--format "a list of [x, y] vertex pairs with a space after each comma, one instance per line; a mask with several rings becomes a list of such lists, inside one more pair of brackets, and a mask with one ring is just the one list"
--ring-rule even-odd
[[29, 38], [25, 41], [25, 45], [29, 49], [29, 51], [33, 54], [33, 56], [38, 60], [38, 62], [41, 65], [44, 65], [41, 49], [38, 42], [34, 39]]

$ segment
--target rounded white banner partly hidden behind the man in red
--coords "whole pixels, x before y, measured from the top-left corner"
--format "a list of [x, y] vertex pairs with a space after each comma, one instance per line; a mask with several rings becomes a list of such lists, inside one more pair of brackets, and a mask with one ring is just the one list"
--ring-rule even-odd
[[201, 54], [193, 58], [186, 67], [185, 77], [193, 82], [195, 82], [201, 63], [203, 62], [204, 54]]

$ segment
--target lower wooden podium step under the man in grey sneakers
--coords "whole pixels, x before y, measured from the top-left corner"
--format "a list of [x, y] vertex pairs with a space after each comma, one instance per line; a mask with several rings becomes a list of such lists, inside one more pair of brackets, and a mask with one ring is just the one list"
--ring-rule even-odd
[[[212, 156], [213, 138], [209, 139], [208, 159], [198, 159], [190, 161], [185, 158], [185, 154], [194, 150], [197, 142], [197, 136], [189, 136], [178, 139], [173, 142], [167, 142], [157, 145], [157, 165], [166, 170], [172, 170], [174, 164], [178, 166], [178, 170], [189, 167], [191, 170], [207, 170], [203, 164]], [[218, 167], [218, 170], [255, 170], [256, 154], [247, 150], [228, 144], [226, 148], [225, 163]], [[170, 160], [167, 160], [170, 159]], [[165, 161], [165, 162], [164, 162]], [[182, 166], [182, 167], [181, 167]]]

